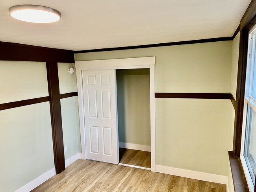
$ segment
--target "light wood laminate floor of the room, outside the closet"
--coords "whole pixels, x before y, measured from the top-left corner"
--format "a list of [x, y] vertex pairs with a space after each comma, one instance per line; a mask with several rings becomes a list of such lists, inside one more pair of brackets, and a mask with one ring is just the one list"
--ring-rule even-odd
[[226, 185], [79, 159], [32, 192], [226, 192]]

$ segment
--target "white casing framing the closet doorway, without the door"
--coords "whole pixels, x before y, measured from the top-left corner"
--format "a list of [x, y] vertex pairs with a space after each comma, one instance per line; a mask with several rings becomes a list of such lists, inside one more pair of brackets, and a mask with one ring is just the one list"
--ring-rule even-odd
[[[150, 135], [151, 135], [151, 171], [156, 172], [156, 125], [155, 125], [155, 57], [137, 57], [125, 59], [104, 59], [90, 61], [76, 61], [76, 78], [78, 89], [78, 109], [80, 122], [80, 136], [82, 159], [88, 159], [85, 149], [85, 118], [83, 100], [82, 71], [84, 70], [115, 70], [149, 68], [150, 73]], [[118, 147], [118, 144], [117, 144]]]

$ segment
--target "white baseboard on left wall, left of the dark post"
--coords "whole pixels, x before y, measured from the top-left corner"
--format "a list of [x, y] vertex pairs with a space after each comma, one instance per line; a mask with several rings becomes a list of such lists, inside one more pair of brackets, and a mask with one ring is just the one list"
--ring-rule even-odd
[[45, 174], [37, 177], [36, 179], [31, 181], [27, 185], [22, 186], [16, 192], [28, 192], [28, 191], [31, 191], [34, 188], [36, 188], [37, 186], [39, 186], [42, 183], [44, 183], [45, 181], [47, 181], [48, 179], [50, 179], [51, 177], [53, 177], [54, 175], [56, 175], [56, 171], [55, 171], [55, 168], [52, 168], [51, 170], [49, 170]]

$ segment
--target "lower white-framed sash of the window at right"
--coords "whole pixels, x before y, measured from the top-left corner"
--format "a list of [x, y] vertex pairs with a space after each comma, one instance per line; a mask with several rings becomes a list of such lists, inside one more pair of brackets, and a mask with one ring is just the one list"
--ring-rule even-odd
[[256, 112], [248, 105], [245, 133], [245, 161], [247, 163], [252, 182], [255, 185], [256, 173]]

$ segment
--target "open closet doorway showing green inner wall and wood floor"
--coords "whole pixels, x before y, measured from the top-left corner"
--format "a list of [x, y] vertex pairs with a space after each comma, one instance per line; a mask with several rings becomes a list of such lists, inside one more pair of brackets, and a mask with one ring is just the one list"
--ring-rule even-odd
[[150, 170], [149, 74], [149, 68], [116, 70], [119, 164]]

